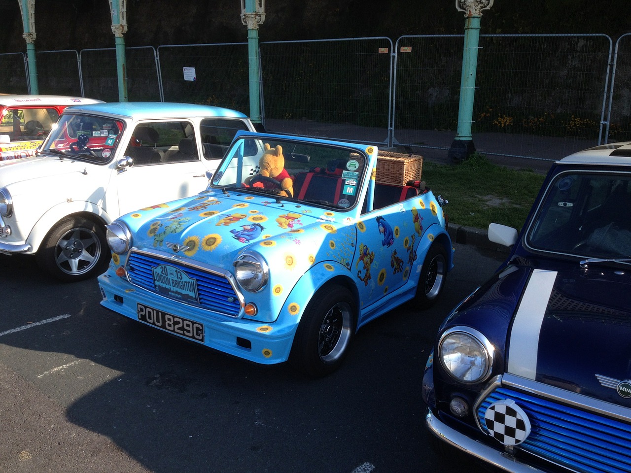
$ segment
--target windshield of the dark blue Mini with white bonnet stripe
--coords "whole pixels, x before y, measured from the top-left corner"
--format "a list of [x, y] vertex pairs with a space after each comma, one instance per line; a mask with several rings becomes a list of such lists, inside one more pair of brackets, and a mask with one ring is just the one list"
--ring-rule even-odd
[[630, 173], [561, 173], [541, 201], [526, 244], [588, 258], [628, 258], [630, 217]]

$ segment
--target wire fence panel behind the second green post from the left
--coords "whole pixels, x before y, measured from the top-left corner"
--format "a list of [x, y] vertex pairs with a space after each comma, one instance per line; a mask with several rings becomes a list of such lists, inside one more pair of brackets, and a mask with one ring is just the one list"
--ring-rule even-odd
[[[85, 96], [118, 102], [116, 49], [83, 49], [80, 61]], [[126, 48], [125, 62], [128, 100], [159, 102], [160, 79], [155, 49], [151, 46]]]

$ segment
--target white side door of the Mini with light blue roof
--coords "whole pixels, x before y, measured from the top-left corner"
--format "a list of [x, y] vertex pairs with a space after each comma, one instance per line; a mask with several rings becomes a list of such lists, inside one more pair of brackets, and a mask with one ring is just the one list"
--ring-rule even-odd
[[198, 131], [188, 120], [137, 124], [124, 155], [134, 162], [114, 177], [121, 214], [201, 192], [214, 163], [201, 159]]

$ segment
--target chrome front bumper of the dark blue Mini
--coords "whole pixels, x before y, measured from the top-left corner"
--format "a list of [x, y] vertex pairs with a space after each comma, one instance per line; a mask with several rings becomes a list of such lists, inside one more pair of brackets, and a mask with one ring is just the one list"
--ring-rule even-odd
[[427, 411], [425, 425], [440, 440], [487, 464], [511, 473], [543, 473], [542, 470], [524, 464], [505, 453], [495, 450], [495, 448], [488, 447], [488, 445], [459, 433], [456, 429], [452, 429], [447, 424], [442, 423], [439, 418], [432, 414], [432, 411]]

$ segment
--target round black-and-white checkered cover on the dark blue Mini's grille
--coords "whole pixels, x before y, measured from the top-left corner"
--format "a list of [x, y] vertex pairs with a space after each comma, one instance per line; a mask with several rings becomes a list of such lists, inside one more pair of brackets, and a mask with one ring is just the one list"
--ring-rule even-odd
[[519, 445], [530, 434], [530, 420], [514, 400], [502, 399], [488, 406], [484, 414], [488, 432], [504, 445]]

